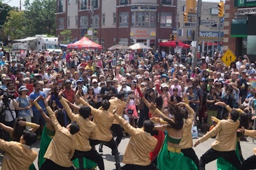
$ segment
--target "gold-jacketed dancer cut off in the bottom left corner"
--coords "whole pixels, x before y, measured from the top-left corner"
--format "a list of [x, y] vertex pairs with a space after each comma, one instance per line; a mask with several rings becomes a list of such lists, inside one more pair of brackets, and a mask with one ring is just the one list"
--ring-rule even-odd
[[19, 142], [0, 139], [0, 149], [4, 151], [2, 169], [29, 169], [37, 156], [29, 146], [35, 142], [36, 134], [28, 130], [22, 132]]

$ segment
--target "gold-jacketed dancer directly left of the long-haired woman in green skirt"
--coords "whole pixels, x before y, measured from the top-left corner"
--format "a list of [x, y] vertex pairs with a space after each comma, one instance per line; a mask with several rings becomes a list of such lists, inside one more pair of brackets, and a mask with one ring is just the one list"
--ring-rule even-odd
[[113, 110], [114, 118], [124, 127], [124, 130], [131, 135], [124, 153], [123, 162], [126, 165], [122, 167], [122, 170], [155, 170], [156, 166], [151, 163], [149, 156], [150, 152], [152, 152], [157, 145], [157, 139], [150, 134], [154, 128], [153, 122], [145, 120], [143, 129], [134, 128], [125, 121], [124, 118], [118, 115], [116, 110], [118, 110], [118, 108]]

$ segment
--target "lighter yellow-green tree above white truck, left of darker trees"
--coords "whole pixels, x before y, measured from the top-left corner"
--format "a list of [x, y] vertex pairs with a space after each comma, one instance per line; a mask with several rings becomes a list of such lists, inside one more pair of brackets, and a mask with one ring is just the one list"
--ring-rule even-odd
[[25, 13], [24, 11], [11, 10], [8, 12], [7, 22], [4, 23], [4, 34], [10, 39], [24, 38]]

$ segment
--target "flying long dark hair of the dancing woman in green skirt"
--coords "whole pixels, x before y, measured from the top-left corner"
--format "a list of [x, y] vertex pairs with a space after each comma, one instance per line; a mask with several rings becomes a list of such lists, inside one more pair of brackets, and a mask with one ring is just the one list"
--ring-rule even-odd
[[163, 120], [168, 122], [168, 127], [172, 127], [177, 130], [182, 129], [184, 125], [183, 118], [185, 118], [186, 111], [175, 104], [171, 104], [169, 110], [174, 118], [163, 118]]

